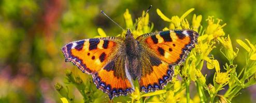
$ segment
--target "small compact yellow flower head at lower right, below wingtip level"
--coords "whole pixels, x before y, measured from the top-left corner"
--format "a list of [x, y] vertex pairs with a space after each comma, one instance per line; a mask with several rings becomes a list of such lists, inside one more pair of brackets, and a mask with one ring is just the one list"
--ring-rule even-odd
[[225, 84], [225, 83], [229, 82], [229, 80], [230, 80], [229, 72], [217, 72], [216, 73], [215, 81], [218, 84]]

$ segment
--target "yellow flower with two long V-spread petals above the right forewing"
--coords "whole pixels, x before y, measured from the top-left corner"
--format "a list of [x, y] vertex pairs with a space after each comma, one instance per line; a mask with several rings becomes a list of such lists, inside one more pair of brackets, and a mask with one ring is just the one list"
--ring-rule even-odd
[[[175, 15], [175, 16], [172, 16], [172, 19], [169, 19], [167, 18], [159, 9], [157, 9], [157, 13], [158, 15], [166, 22], [170, 22], [171, 26], [170, 27], [173, 27], [175, 26], [175, 29], [182, 29], [181, 28], [181, 22], [182, 20], [190, 13], [194, 10], [194, 8], [192, 9], [189, 9], [188, 11], [186, 11], [180, 18], [179, 16]], [[170, 28], [170, 29], [174, 29], [174, 28]]]

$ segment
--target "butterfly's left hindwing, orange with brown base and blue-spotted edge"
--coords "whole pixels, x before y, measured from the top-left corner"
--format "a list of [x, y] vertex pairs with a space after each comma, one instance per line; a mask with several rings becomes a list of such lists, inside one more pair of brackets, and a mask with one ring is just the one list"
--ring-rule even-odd
[[97, 88], [107, 93], [110, 99], [134, 91], [132, 82], [125, 74], [124, 64], [124, 55], [118, 54], [102, 70], [93, 75]]

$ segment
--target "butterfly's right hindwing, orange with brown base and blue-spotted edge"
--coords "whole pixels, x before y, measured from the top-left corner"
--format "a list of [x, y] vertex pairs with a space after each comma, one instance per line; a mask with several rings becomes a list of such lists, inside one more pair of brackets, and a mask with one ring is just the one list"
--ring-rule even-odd
[[[146, 53], [148, 54], [148, 53]], [[140, 90], [150, 92], [163, 89], [174, 75], [174, 66], [154, 57], [153, 54], [141, 55]]]

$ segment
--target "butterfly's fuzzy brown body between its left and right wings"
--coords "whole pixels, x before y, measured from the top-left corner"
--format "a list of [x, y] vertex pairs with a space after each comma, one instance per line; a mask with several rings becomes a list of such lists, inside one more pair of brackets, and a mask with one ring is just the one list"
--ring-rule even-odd
[[130, 29], [127, 29], [125, 36], [125, 51], [126, 51], [126, 68], [133, 79], [140, 77], [140, 64], [139, 64], [139, 44], [133, 38]]

